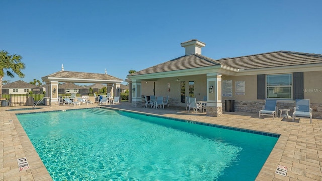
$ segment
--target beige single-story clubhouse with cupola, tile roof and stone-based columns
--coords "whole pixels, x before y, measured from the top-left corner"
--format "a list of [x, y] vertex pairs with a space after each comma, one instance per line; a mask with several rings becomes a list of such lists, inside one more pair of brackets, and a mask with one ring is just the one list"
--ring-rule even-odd
[[186, 106], [185, 97], [207, 99], [207, 115], [220, 116], [225, 100], [236, 111], [258, 112], [267, 99], [293, 112], [295, 99], [310, 99], [313, 117], [322, 117], [322, 55], [276, 51], [214, 60], [201, 54], [205, 43], [181, 43], [185, 55], [127, 76], [130, 101], [141, 107], [142, 95], [169, 96]]

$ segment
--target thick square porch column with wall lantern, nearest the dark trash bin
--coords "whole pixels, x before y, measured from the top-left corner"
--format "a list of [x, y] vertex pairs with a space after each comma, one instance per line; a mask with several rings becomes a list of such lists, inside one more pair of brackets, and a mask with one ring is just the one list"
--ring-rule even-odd
[[207, 116], [221, 116], [221, 74], [207, 74]]

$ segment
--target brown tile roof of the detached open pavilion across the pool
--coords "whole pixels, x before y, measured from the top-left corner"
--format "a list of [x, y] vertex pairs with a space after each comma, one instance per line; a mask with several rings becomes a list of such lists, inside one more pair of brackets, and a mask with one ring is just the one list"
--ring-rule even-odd
[[[84, 72], [72, 72], [72, 71], [59, 71], [45, 77], [54, 77], [54, 78], [86, 78], [93, 80], [118, 80], [123, 81], [122, 79], [116, 78], [111, 75], [101, 74], [101, 73], [84, 73]], [[43, 77], [42, 77], [43, 78]]]

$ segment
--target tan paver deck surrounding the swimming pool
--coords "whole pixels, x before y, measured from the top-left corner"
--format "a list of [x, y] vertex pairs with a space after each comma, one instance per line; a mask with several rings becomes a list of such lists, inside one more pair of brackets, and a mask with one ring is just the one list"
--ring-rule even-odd
[[[0, 108], [0, 180], [52, 180], [28, 136], [20, 125], [16, 113], [42, 112], [96, 107], [52, 106], [37, 110], [6, 111], [26, 107]], [[103, 106], [102, 106], [103, 107]], [[108, 105], [109, 108], [156, 114], [165, 117], [212, 123], [242, 129], [280, 134], [256, 180], [322, 180], [322, 120], [275, 118], [258, 113], [224, 112], [223, 116], [210, 117], [206, 113], [185, 111], [185, 107], [165, 109], [133, 108], [130, 103]], [[29, 107], [30, 108], [30, 107]], [[19, 171], [17, 159], [26, 157], [30, 168]], [[275, 174], [277, 165], [287, 166], [287, 175]], [[241, 178], [242, 179], [242, 178]]]

